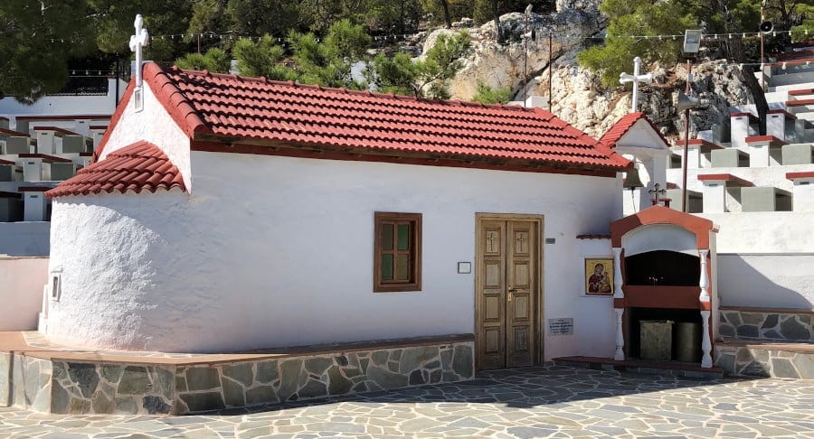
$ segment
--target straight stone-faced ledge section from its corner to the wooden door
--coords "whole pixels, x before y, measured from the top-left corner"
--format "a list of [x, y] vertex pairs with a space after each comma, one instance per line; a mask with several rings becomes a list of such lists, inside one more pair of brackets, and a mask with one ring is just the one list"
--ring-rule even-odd
[[472, 342], [178, 368], [175, 413], [455, 382], [474, 377]]

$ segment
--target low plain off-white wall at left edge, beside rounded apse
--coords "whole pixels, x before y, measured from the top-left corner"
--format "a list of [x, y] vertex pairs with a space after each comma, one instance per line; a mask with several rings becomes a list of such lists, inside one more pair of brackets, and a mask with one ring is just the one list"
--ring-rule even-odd
[[48, 257], [0, 256], [0, 331], [33, 331], [43, 306]]

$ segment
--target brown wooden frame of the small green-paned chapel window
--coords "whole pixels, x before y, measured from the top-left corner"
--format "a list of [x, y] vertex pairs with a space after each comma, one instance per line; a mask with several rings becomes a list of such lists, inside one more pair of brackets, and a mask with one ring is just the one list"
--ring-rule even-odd
[[[385, 281], [382, 279], [382, 255], [383, 250], [382, 230], [384, 224], [398, 224], [410, 222], [412, 225], [412, 236], [410, 237], [409, 260], [411, 264], [409, 280]], [[393, 237], [398, 233], [393, 229]], [[393, 244], [393, 254], [399, 250]], [[402, 250], [403, 251], [403, 250]], [[395, 259], [395, 258], [394, 258]], [[396, 268], [393, 268], [395, 277]], [[375, 212], [374, 213], [374, 293], [390, 293], [402, 291], [421, 291], [421, 213], [397, 213], [397, 212]]]

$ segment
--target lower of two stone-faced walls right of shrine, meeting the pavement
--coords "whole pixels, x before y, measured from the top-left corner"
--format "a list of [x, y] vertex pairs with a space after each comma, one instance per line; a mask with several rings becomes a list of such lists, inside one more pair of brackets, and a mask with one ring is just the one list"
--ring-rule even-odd
[[814, 379], [810, 352], [716, 345], [715, 366], [734, 376]]

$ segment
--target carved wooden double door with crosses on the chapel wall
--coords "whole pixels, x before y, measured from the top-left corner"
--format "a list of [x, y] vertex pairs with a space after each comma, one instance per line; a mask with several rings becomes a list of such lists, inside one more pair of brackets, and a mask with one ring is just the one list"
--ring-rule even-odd
[[478, 369], [537, 363], [537, 220], [478, 221]]

